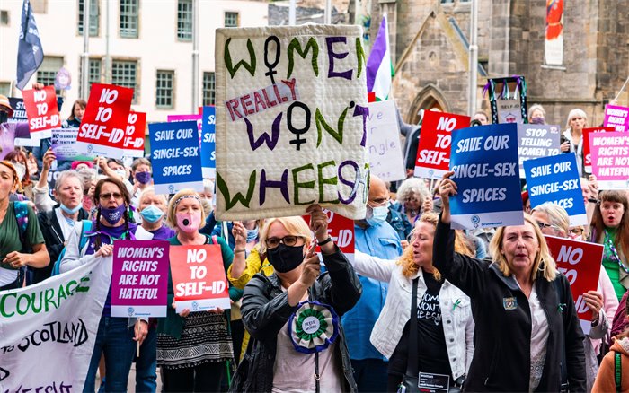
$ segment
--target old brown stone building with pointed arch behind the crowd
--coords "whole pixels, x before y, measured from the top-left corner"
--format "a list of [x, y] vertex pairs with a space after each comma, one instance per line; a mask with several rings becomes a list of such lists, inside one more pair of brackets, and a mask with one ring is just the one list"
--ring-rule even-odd
[[[629, 76], [629, 0], [566, 0], [561, 66], [544, 64], [546, 0], [478, 2], [477, 109], [491, 111], [488, 77], [520, 74], [529, 106], [544, 105], [548, 123], [565, 127], [574, 108], [590, 126], [602, 123]], [[388, 15], [393, 96], [405, 121], [416, 122], [419, 109], [467, 112], [471, 8], [464, 0], [372, 0], [372, 37]], [[618, 100], [629, 106], [629, 86]]]

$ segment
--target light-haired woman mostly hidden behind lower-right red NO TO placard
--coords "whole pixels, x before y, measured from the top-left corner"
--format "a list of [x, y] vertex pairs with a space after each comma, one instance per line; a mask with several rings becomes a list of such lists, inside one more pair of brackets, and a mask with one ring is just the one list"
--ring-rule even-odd
[[[568, 237], [570, 218], [562, 206], [546, 202], [536, 206], [532, 215], [545, 235], [559, 238]], [[611, 323], [618, 308], [618, 300], [614, 286], [605, 269], [600, 269], [598, 274], [597, 290], [588, 291], [582, 296], [585, 304], [592, 312], [591, 329], [583, 340], [588, 391], [590, 391], [598, 372], [597, 356], [601, 349], [601, 339], [605, 338], [607, 331], [611, 329]]]

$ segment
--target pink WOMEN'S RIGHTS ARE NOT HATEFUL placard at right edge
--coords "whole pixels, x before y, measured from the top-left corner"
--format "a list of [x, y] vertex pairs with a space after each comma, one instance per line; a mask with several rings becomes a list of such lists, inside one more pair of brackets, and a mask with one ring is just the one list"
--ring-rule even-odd
[[629, 188], [629, 133], [590, 133], [592, 173], [600, 189]]

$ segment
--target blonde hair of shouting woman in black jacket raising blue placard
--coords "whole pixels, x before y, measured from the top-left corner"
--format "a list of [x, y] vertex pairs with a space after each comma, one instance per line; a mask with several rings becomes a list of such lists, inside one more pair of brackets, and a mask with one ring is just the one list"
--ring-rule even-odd
[[[539, 229], [539, 226], [537, 226], [536, 221], [529, 214], [524, 214], [524, 221], [525, 224], [530, 223], [533, 227], [537, 243], [539, 244], [539, 250], [537, 251], [535, 261], [533, 262], [533, 268], [531, 269], [531, 280], [535, 281], [537, 271], [541, 271], [543, 272], [546, 281], [553, 281], [557, 276], [557, 265], [554, 262], [553, 256], [550, 254], [550, 250], [548, 249], [548, 245], [544, 239], [544, 234]], [[513, 266], [509, 266], [509, 261], [502, 254], [502, 240], [504, 239], [505, 228], [506, 227], [502, 226], [496, 230], [492, 241], [489, 243], [489, 251], [492, 255], [493, 263], [498, 266], [502, 275], [509, 277], [511, 275], [511, 271], [513, 270]]]

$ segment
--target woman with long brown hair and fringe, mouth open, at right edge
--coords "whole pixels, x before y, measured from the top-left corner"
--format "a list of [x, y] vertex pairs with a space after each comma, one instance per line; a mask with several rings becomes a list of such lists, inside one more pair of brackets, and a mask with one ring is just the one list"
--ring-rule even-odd
[[605, 246], [603, 266], [620, 300], [629, 289], [627, 194], [625, 191], [601, 191], [597, 207], [592, 217], [591, 241]]

